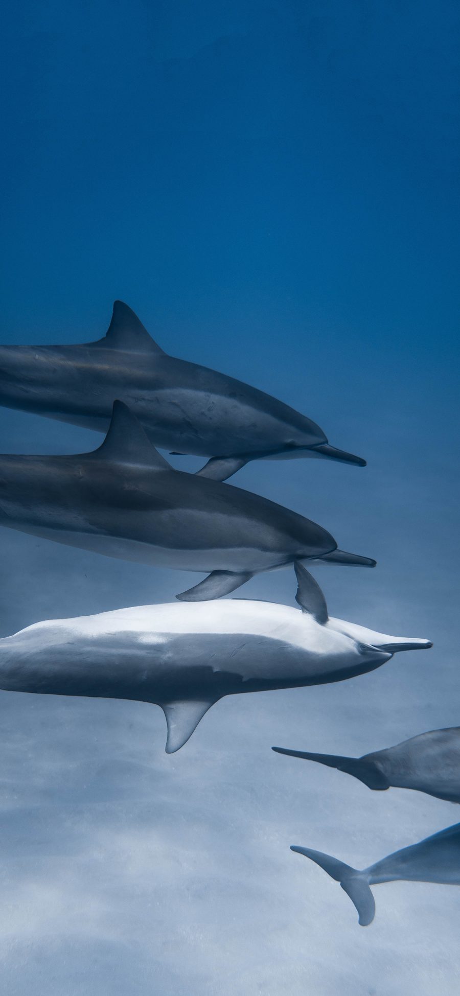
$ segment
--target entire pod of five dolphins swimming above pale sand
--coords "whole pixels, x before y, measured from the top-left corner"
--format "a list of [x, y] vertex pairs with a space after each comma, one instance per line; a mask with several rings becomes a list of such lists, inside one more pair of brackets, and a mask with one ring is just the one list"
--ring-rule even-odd
[[[319, 425], [271, 395], [168, 356], [121, 302], [98, 342], [0, 347], [0, 404], [107, 432], [90, 453], [0, 456], [0, 524], [208, 575], [177, 595], [179, 603], [38, 622], [0, 639], [1, 689], [155, 703], [170, 754], [225, 695], [343, 681], [398, 651], [432, 645], [330, 618], [305, 563], [375, 561], [339, 550], [309, 519], [223, 483], [255, 459], [365, 461], [331, 446]], [[208, 462], [183, 473], [155, 445]], [[255, 574], [291, 564], [302, 612], [244, 599], [212, 602]], [[338, 768], [372, 789], [398, 786], [460, 802], [460, 727], [361, 758], [273, 750]], [[340, 881], [361, 925], [374, 916], [372, 884], [460, 884], [460, 824], [363, 871], [292, 850]]]

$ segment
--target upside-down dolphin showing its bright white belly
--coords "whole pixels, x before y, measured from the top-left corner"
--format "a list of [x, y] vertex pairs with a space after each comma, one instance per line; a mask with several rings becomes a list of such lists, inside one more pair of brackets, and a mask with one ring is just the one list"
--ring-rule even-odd
[[317, 583], [301, 564], [296, 572], [302, 612], [231, 599], [36, 622], [0, 639], [0, 688], [153, 702], [171, 754], [225, 695], [345, 681], [404, 648], [405, 639], [371, 630], [363, 642], [360, 626], [353, 635], [350, 623], [329, 619]]

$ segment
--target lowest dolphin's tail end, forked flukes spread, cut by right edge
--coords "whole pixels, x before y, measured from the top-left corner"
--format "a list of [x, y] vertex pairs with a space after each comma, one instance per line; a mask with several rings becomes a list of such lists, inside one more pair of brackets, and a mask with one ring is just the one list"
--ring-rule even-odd
[[443, 885], [460, 885], [460, 823], [439, 834], [425, 838], [409, 848], [395, 851], [368, 869], [357, 871], [337, 858], [310, 848], [292, 847], [340, 881], [354, 903], [358, 922], [368, 926], [375, 915], [375, 902], [369, 885], [381, 881], [433, 881]]

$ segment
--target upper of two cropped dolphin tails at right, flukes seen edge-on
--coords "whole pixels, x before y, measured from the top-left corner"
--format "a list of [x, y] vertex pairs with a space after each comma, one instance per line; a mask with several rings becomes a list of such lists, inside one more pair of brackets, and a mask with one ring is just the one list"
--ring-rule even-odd
[[460, 726], [420, 733], [395, 747], [358, 758], [310, 754], [285, 747], [272, 750], [338, 768], [358, 778], [369, 789], [384, 790], [390, 786], [415, 789], [436, 799], [460, 803]]

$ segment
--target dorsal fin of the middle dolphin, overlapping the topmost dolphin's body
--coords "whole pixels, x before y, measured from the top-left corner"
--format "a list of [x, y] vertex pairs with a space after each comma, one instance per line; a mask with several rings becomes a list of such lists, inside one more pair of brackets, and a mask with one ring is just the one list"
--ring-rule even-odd
[[141, 464], [150, 470], [173, 470], [123, 401], [114, 401], [108, 434], [95, 456], [114, 463]]

